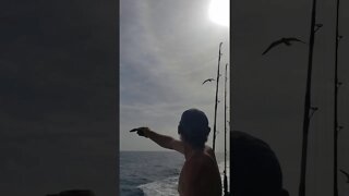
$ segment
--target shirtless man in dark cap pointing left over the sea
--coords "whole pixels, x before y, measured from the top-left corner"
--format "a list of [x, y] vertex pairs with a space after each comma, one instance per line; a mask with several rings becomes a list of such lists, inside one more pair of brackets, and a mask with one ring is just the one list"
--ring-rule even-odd
[[158, 134], [148, 127], [134, 128], [139, 135], [151, 138], [159, 146], [184, 155], [180, 173], [180, 196], [221, 196], [220, 174], [212, 148], [205, 146], [210, 127], [204, 112], [190, 109], [183, 112], [178, 126], [180, 140]]

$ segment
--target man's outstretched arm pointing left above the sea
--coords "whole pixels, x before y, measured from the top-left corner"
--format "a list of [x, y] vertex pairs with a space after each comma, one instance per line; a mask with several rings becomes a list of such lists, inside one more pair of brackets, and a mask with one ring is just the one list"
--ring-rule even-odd
[[171, 136], [158, 134], [154, 131], [151, 131], [148, 127], [133, 128], [130, 132], [137, 132], [139, 135], [148, 137], [164, 148], [173, 149], [176, 151], [184, 154], [183, 143], [181, 140], [174, 139]]

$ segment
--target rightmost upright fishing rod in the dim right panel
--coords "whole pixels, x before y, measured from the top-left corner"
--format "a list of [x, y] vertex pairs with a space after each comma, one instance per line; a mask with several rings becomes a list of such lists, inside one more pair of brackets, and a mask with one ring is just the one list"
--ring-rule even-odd
[[338, 44], [339, 36], [339, 0], [337, 0], [336, 9], [336, 49], [335, 49], [335, 78], [334, 78], [334, 196], [338, 196], [338, 132], [341, 126], [338, 125], [338, 89], [341, 83], [338, 81]]

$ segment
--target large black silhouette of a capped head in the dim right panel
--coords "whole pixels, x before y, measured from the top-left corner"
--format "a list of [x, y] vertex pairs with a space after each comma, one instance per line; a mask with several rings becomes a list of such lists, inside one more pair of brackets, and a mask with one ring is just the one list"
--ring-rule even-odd
[[231, 187], [233, 196], [288, 196], [282, 188], [280, 164], [263, 140], [246, 133], [233, 131]]

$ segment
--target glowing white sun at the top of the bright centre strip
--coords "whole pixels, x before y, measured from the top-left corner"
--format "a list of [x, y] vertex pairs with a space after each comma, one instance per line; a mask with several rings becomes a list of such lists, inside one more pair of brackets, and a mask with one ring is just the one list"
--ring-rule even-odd
[[229, 26], [229, 0], [210, 0], [208, 14], [210, 21]]

